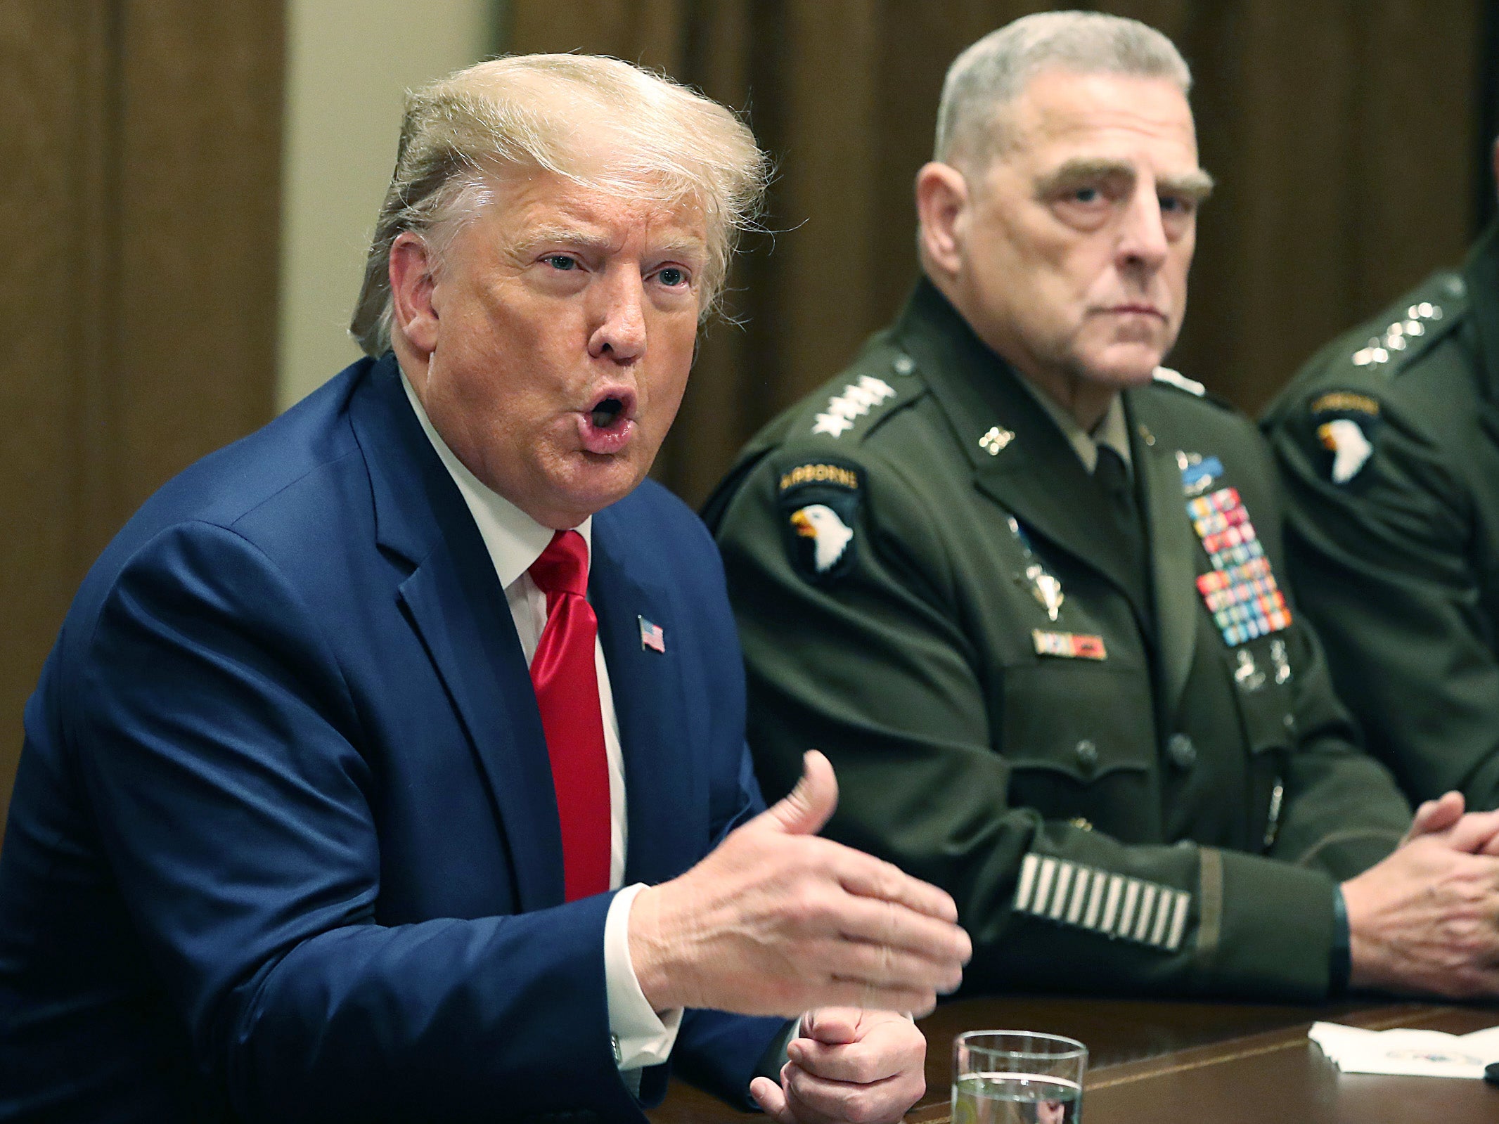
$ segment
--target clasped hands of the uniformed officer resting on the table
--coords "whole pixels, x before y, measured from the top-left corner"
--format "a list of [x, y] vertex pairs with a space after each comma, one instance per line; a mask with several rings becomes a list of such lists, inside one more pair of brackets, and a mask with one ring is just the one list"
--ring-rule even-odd
[[1499, 814], [1447, 793], [1399, 850], [1343, 883], [1355, 988], [1499, 995]]

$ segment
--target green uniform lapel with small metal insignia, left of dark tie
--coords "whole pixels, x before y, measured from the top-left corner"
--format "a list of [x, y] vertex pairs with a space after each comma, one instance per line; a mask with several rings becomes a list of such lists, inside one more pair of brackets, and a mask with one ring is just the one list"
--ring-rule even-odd
[[[1027, 534], [1112, 581], [1150, 635], [1144, 574], [1133, 572], [1129, 544], [1076, 451], [1019, 376], [925, 280], [911, 295], [896, 339], [956, 430], [977, 489], [1012, 513]], [[991, 454], [980, 439], [995, 426], [1012, 438]]]

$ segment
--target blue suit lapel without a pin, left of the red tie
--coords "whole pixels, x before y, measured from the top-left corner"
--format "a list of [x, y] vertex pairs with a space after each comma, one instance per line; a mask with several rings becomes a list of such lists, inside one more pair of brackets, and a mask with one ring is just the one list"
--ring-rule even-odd
[[562, 832], [525, 653], [478, 528], [390, 357], [355, 403], [354, 427], [370, 472], [376, 538], [414, 563], [396, 596], [478, 757], [510, 844], [519, 905], [561, 905]]

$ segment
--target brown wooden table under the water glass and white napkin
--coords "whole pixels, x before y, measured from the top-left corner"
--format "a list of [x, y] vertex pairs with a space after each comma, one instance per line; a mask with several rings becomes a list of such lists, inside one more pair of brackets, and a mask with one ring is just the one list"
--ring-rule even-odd
[[[1480, 1081], [1340, 1075], [1307, 1042], [1313, 1021], [1453, 1034], [1499, 1025], [1499, 1007], [1357, 1003], [1322, 1007], [1013, 997], [965, 1000], [926, 1019], [926, 1096], [910, 1124], [946, 1124], [952, 1039], [1034, 1030], [1088, 1046], [1085, 1124], [1495, 1124], [1499, 1088]], [[682, 1084], [657, 1124], [754, 1120]]]

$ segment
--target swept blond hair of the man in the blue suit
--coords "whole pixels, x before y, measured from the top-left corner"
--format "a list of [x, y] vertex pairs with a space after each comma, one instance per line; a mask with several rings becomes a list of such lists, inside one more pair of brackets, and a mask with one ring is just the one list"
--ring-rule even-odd
[[[607, 159], [580, 126], [609, 130]], [[597, 141], [597, 132], [591, 132]], [[603, 169], [600, 165], [603, 163]], [[769, 159], [729, 109], [618, 58], [511, 55], [469, 66], [406, 96], [349, 333], [367, 355], [390, 351], [390, 247], [402, 231], [441, 261], [451, 237], [510, 169], [541, 169], [610, 193], [691, 202], [708, 223], [703, 315], [717, 304], [736, 237], [754, 225]]]

